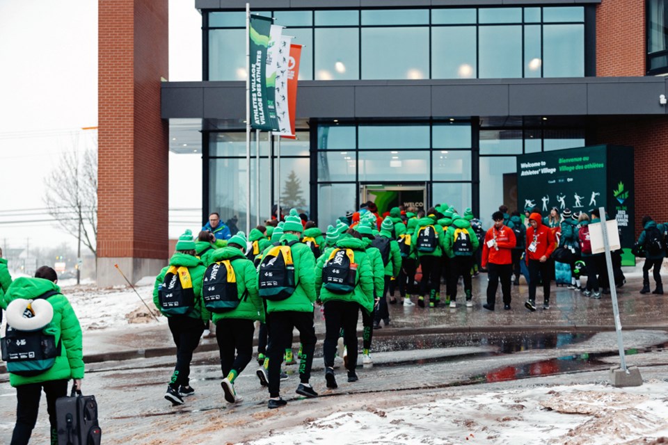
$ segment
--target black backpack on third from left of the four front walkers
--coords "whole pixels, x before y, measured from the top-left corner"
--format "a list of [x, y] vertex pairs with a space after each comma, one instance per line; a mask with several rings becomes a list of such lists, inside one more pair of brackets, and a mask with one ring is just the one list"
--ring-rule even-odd
[[285, 300], [296, 289], [292, 261], [292, 246], [296, 243], [299, 241], [290, 241], [287, 245], [275, 245], [262, 257], [257, 286], [260, 296], [265, 300]]

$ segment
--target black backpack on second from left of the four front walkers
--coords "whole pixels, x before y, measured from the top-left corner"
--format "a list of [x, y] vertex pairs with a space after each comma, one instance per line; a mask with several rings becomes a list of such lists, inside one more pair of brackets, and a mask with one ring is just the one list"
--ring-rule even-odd
[[[246, 292], [244, 296], [246, 297]], [[202, 300], [209, 311], [216, 314], [230, 312], [239, 306], [237, 275], [229, 259], [207, 267], [202, 282]]]

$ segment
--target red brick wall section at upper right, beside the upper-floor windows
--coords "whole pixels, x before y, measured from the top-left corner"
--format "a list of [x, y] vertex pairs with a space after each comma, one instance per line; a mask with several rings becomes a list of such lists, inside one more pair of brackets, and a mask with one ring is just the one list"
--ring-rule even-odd
[[596, 8], [596, 76], [644, 76], [645, 0], [603, 0]]

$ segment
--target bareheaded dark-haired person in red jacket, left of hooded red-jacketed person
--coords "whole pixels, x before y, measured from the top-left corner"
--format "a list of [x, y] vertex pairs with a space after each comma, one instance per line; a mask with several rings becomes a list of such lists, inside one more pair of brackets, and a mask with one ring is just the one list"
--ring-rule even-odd
[[496, 289], [501, 281], [503, 309], [510, 309], [510, 283], [513, 275], [513, 248], [517, 241], [513, 229], [503, 224], [503, 213], [492, 213], [494, 225], [485, 234], [482, 244], [482, 268], [487, 269], [487, 302], [485, 309], [494, 310]]

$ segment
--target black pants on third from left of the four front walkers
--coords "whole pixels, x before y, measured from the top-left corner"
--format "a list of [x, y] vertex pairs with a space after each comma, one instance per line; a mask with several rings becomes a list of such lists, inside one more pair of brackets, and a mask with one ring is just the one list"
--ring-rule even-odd
[[283, 363], [285, 345], [292, 339], [292, 330], [296, 327], [301, 341], [301, 357], [299, 357], [299, 380], [308, 383], [311, 377], [313, 351], [315, 350], [315, 326], [313, 312], [276, 311], [267, 314], [269, 323], [269, 396], [280, 394], [280, 364]]

